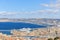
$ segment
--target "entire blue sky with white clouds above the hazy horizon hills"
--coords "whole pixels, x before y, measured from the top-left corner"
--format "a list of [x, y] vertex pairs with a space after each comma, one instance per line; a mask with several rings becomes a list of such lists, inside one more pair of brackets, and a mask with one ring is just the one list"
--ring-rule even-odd
[[0, 18], [60, 19], [60, 0], [0, 0]]

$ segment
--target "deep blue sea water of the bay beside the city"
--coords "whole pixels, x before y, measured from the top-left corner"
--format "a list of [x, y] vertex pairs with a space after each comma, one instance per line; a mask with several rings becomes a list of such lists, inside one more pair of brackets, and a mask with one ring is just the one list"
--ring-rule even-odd
[[[0, 30], [12, 30], [12, 29], [21, 29], [21, 28], [42, 28], [46, 27], [43, 25], [23, 23], [23, 22], [0, 22]], [[10, 34], [9, 31], [0, 31], [4, 34]]]

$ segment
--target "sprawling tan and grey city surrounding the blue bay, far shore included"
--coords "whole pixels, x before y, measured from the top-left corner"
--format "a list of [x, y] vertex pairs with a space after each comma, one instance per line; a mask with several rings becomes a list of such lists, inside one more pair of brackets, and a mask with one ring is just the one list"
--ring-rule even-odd
[[[22, 28], [10, 30], [11, 35], [0, 32], [0, 40], [48, 40], [60, 37], [60, 19], [0, 19], [4, 22], [25, 22], [46, 25], [45, 28]], [[39, 22], [38, 22], [39, 21]], [[2, 22], [2, 21], [1, 21]], [[5, 31], [5, 30], [4, 30]]]

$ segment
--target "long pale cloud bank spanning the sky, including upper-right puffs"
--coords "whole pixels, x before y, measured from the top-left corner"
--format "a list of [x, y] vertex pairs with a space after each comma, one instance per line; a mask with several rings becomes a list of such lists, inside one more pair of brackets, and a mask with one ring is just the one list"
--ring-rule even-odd
[[31, 14], [44, 14], [44, 13], [49, 13], [49, 14], [57, 14], [60, 13], [60, 0], [57, 0], [56, 3], [50, 3], [50, 4], [41, 4], [44, 8], [42, 10], [36, 10], [36, 11], [25, 11], [25, 12], [7, 12], [7, 11], [1, 11], [0, 15], [31, 15]]

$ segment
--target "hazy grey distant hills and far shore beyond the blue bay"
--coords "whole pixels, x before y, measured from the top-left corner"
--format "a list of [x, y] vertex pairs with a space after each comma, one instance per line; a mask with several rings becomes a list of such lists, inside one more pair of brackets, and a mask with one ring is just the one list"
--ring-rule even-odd
[[8, 19], [8, 18], [1, 18], [0, 22], [27, 22], [27, 23], [32, 23], [32, 24], [56, 25], [56, 24], [60, 24], [60, 19], [47, 19], [47, 18]]

